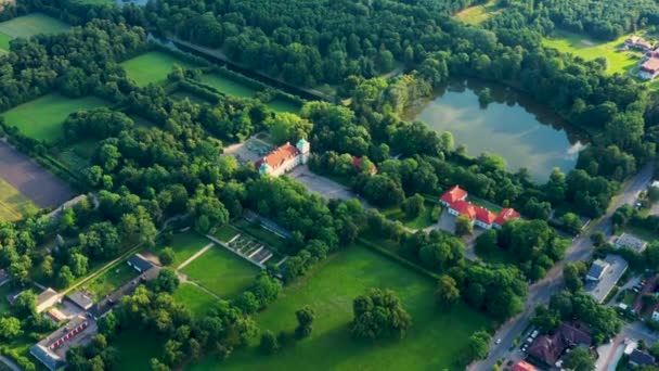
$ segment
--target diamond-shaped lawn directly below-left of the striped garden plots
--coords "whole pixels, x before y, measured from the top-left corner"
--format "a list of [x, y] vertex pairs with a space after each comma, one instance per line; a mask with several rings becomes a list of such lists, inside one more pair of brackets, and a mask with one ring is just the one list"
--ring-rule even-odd
[[217, 245], [183, 268], [191, 281], [227, 298], [247, 289], [258, 272], [256, 266]]

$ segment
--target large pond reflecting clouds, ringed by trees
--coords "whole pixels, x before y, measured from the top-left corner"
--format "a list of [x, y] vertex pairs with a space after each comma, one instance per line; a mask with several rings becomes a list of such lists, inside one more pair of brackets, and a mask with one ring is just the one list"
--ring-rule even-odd
[[[479, 103], [478, 92], [490, 89], [492, 102]], [[477, 80], [454, 80], [432, 98], [417, 102], [404, 115], [438, 132], [449, 131], [467, 154], [483, 152], [505, 159], [509, 171], [527, 168], [544, 182], [554, 167], [568, 171], [577, 164], [587, 137], [568, 130], [556, 114], [529, 97], [503, 86]]]

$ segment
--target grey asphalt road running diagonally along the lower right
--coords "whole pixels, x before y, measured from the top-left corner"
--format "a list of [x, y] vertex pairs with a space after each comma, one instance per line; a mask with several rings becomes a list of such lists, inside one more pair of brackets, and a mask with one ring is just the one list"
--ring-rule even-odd
[[492, 343], [488, 358], [482, 361], [471, 363], [468, 370], [490, 371], [496, 361], [508, 356], [508, 349], [513, 342], [529, 325], [535, 307], [540, 304], [548, 303], [552, 295], [563, 287], [563, 267], [566, 263], [586, 260], [593, 253], [593, 244], [590, 234], [594, 232], [611, 232], [611, 216], [618, 207], [624, 204], [633, 204], [639, 191], [647, 188], [652, 178], [652, 165], [645, 166], [638, 174], [624, 183], [622, 192], [611, 202], [607, 213], [598, 220], [593, 221], [586, 232], [574, 239], [570, 250], [566, 253], [564, 260], [558, 263], [547, 276], [529, 287], [525, 310], [504, 323], [492, 336], [493, 340], [501, 338], [499, 345]]

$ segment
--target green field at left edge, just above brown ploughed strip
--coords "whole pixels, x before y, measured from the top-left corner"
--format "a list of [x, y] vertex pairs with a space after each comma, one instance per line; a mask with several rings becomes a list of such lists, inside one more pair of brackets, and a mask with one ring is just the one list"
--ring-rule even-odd
[[52, 93], [13, 107], [2, 116], [27, 137], [56, 142], [64, 135], [62, 124], [69, 114], [105, 105], [107, 102], [95, 97], [68, 99]]

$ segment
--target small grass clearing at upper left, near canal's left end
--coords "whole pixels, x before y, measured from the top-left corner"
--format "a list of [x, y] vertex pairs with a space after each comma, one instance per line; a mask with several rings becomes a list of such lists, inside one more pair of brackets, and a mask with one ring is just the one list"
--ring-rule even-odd
[[195, 67], [194, 64], [159, 51], [152, 51], [140, 56], [135, 56], [121, 63], [121, 66], [124, 66], [126, 69], [128, 77], [130, 77], [139, 86], [147, 86], [148, 84], [158, 84], [165, 81], [167, 79], [167, 75], [169, 75], [175, 64], [183, 68]]

